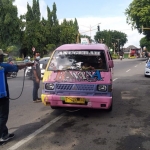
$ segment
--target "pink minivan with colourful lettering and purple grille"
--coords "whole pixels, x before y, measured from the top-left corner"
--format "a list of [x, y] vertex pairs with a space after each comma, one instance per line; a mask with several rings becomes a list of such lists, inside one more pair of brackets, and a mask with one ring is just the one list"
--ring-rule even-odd
[[42, 102], [51, 108], [112, 110], [113, 60], [105, 44], [65, 44], [52, 54], [43, 77]]

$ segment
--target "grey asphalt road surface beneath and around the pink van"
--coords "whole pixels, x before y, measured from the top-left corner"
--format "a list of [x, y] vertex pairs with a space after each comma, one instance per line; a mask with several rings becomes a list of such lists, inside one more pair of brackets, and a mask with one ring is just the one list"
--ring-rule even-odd
[[[10, 102], [8, 127], [16, 137], [0, 149], [150, 150], [150, 78], [144, 77], [145, 61], [114, 64], [112, 112], [68, 112], [33, 103], [32, 81], [26, 79], [22, 96]], [[8, 79], [11, 98], [19, 96], [22, 80], [23, 71]]]

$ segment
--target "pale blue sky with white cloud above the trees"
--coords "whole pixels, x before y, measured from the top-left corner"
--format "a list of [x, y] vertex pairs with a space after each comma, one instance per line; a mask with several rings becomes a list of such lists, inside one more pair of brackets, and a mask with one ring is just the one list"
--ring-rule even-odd
[[[26, 13], [27, 2], [32, 6], [32, 0], [15, 0], [18, 16]], [[101, 31], [117, 30], [127, 34], [128, 42], [124, 48], [129, 45], [140, 47], [139, 41], [144, 35], [132, 30], [131, 25], [126, 23], [125, 10], [132, 0], [39, 0], [42, 17], [47, 18], [47, 6], [52, 10], [54, 2], [58, 20], [61, 22], [63, 19], [76, 18], [81, 34], [91, 36], [93, 39], [99, 24]]]

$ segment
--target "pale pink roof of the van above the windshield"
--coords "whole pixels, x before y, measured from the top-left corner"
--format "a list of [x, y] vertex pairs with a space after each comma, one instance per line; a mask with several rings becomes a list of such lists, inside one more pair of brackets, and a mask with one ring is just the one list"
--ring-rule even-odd
[[105, 44], [64, 44], [56, 50], [108, 50]]

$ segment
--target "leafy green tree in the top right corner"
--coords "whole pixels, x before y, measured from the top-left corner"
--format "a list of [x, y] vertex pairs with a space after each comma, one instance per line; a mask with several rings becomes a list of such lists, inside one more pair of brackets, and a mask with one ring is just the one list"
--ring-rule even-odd
[[[133, 0], [129, 7], [125, 10], [127, 23], [136, 28], [139, 33], [143, 27], [150, 27], [150, 1], [149, 0]], [[150, 39], [150, 29], [143, 30], [143, 34]]]

